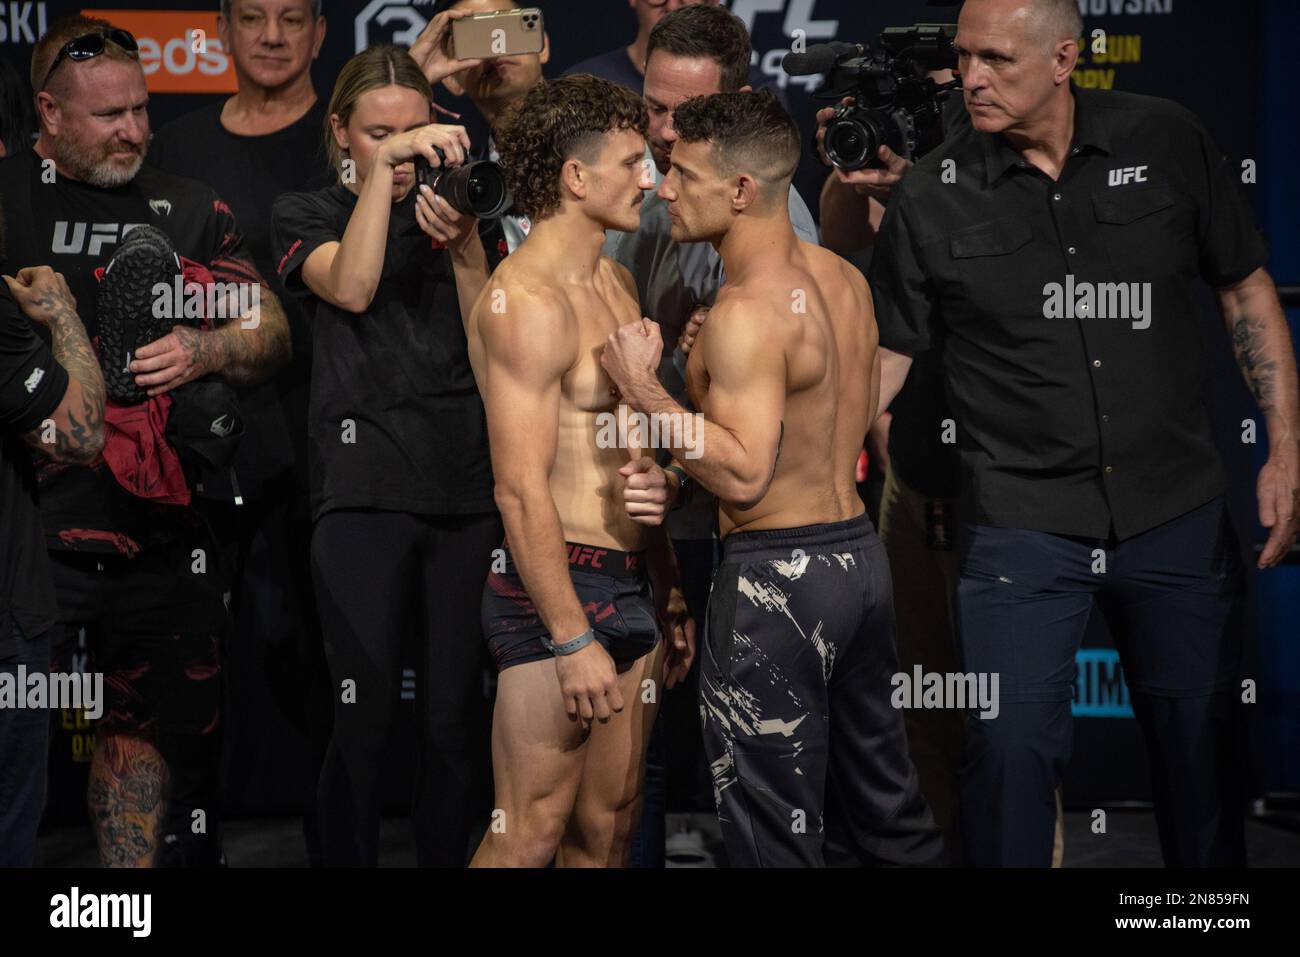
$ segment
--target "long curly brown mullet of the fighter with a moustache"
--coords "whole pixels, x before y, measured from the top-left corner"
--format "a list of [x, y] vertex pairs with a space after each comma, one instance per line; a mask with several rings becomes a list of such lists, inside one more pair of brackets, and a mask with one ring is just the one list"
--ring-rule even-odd
[[588, 73], [545, 79], [520, 100], [504, 124], [500, 165], [516, 212], [534, 222], [560, 208], [560, 169], [569, 159], [593, 163], [601, 138], [649, 126], [645, 103], [627, 87]]

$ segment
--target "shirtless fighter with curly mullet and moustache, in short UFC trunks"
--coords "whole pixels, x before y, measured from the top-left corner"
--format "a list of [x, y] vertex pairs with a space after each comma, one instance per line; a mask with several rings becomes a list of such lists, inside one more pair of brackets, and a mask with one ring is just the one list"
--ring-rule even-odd
[[625, 511], [629, 450], [599, 424], [619, 403], [601, 347], [641, 316], [601, 244], [638, 225], [645, 130], [640, 98], [580, 74], [533, 87], [499, 144], [532, 228], [467, 324], [507, 538], [484, 592], [497, 811], [474, 866], [625, 863], [659, 683], [690, 666], [667, 536]]

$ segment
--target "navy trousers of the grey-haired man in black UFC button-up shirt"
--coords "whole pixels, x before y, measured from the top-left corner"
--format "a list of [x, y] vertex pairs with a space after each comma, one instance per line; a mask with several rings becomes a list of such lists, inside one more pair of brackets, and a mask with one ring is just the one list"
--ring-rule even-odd
[[976, 866], [1052, 861], [1070, 759], [1075, 653], [1096, 599], [1147, 737], [1165, 863], [1243, 866], [1236, 761], [1242, 562], [1223, 501], [1123, 542], [967, 525], [957, 586], [965, 668], [998, 675], [967, 719], [961, 779]]

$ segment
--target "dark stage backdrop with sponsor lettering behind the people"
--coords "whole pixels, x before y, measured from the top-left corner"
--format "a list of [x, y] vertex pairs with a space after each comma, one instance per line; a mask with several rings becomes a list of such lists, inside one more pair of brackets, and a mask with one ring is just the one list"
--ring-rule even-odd
[[[1278, 23], [1294, 23], [1294, 14], [1283, 10], [1290, 0], [1269, 0], [1268, 9]], [[540, 4], [546, 14], [551, 40], [551, 61], [547, 75], [558, 75], [568, 65], [594, 53], [625, 46], [634, 34], [634, 18], [624, 0], [550, 0]], [[807, 137], [814, 130], [812, 114], [820, 105], [812, 96], [815, 78], [786, 78], [780, 70], [780, 59], [790, 48], [793, 38], [807, 43], [829, 39], [874, 42], [883, 27], [914, 22], [950, 22], [956, 20], [953, 7], [936, 7], [923, 0], [731, 0], [727, 5], [749, 26], [754, 38], [754, 62], [770, 82], [784, 88], [788, 101]], [[1268, 99], [1261, 82], [1260, 68], [1262, 10], [1258, 0], [1079, 0], [1084, 13], [1084, 56], [1075, 79], [1089, 87], [1127, 90], [1166, 96], [1195, 111], [1209, 127], [1219, 147], [1236, 164], [1258, 157], [1257, 135], [1265, 117], [1261, 104], [1277, 103]], [[140, 40], [146, 72], [150, 77], [151, 118], [155, 127], [192, 109], [212, 98], [234, 88], [234, 75], [229, 60], [216, 40], [216, 1], [196, 0], [138, 0], [130, 9], [107, 7], [81, 7], [65, 0], [36, 3], [0, 1], [0, 55], [12, 59], [25, 73], [31, 44], [57, 16], [73, 9], [104, 16], [120, 26], [130, 29]], [[421, 0], [325, 0], [329, 31], [322, 55], [313, 69], [317, 90], [328, 96], [343, 61], [365, 47], [395, 42], [410, 44], [425, 25], [432, 3]], [[1290, 17], [1290, 20], [1288, 20]], [[204, 53], [192, 52], [192, 31], [204, 30], [208, 43]], [[1106, 53], [1095, 53], [1096, 31], [1104, 31]], [[1291, 33], [1294, 35], [1294, 31]], [[1274, 57], [1286, 56], [1284, 47], [1277, 46]], [[1280, 75], [1280, 70], [1274, 74]], [[464, 101], [448, 103], [458, 111], [472, 107]], [[465, 122], [472, 134], [481, 129], [473, 116]], [[1278, 121], [1274, 117], [1274, 121]], [[1284, 118], [1280, 118], [1284, 122]], [[1273, 129], [1273, 127], [1269, 127]], [[1274, 140], [1270, 140], [1277, 150]], [[1280, 151], [1279, 151], [1280, 152]], [[1294, 155], [1294, 153], [1292, 153]], [[213, 157], [220, 163], [220, 157]], [[1279, 169], [1274, 165], [1273, 169]], [[1268, 182], [1269, 169], [1261, 164], [1261, 183]], [[1290, 172], [1290, 170], [1288, 170]], [[202, 176], [202, 170], [196, 170]], [[1280, 174], [1280, 173], [1279, 173]], [[826, 172], [816, 164], [812, 151], [806, 151], [797, 186], [816, 212], [816, 200]], [[1254, 195], [1256, 186], [1245, 186]], [[1270, 194], [1271, 195], [1271, 194]], [[1261, 209], [1262, 213], [1262, 209]], [[1286, 217], [1274, 216], [1280, 229]], [[1295, 242], [1290, 241], [1288, 265], [1295, 267]], [[1277, 265], [1277, 264], [1275, 264]], [[1284, 268], [1284, 267], [1283, 267]], [[1286, 277], [1279, 277], [1286, 278]], [[1202, 295], [1199, 321], [1204, 324], [1208, 348], [1212, 355], [1212, 374], [1206, 387], [1216, 430], [1230, 475], [1230, 506], [1240, 529], [1243, 555], [1253, 568], [1252, 544], [1258, 537], [1254, 520], [1254, 469], [1262, 462], [1262, 450], [1243, 445], [1242, 420], [1258, 419], [1240, 376], [1236, 372], [1222, 324], [1214, 309], [1209, 291]], [[1262, 434], [1262, 421], [1260, 423]], [[1295, 579], [1283, 579], [1288, 572], [1273, 572], [1265, 583], [1271, 592], [1286, 593], [1296, 588]], [[1256, 593], [1252, 573], [1252, 605]], [[1283, 653], [1283, 632], [1294, 635], [1294, 619], [1264, 615], [1268, 627], [1261, 635], [1268, 662], [1295, 661], [1294, 651]], [[1252, 651], [1247, 674], [1258, 680], [1262, 710], [1268, 718], [1262, 739], [1261, 723], [1254, 723], [1252, 735], [1254, 767], [1248, 788], [1258, 791], [1269, 787], [1300, 788], [1300, 768], [1296, 767], [1296, 679], [1283, 680], [1277, 674], [1256, 674], [1254, 615], [1251, 615]], [[1076, 681], [1076, 742], [1075, 758], [1066, 781], [1066, 801], [1074, 806], [1092, 806], [1105, 800], [1143, 800], [1149, 797], [1149, 784], [1143, 758], [1141, 742], [1128, 707], [1127, 690], [1119, 674], [1104, 623], [1095, 616], [1086, 648], [1079, 655]], [[1284, 693], [1290, 689], [1290, 694]], [[264, 702], [264, 693], [240, 694], [237, 700]], [[1277, 693], [1274, 693], [1277, 692]], [[1270, 697], [1271, 694], [1271, 697]], [[1253, 714], [1256, 709], [1245, 709]], [[268, 733], [277, 737], [283, 732], [283, 722], [268, 714]], [[87, 758], [87, 729], [68, 716], [61, 728], [57, 761], [64, 770], [70, 762]], [[280, 731], [276, 731], [280, 729]], [[283, 732], [283, 740], [291, 736]], [[286, 750], [289, 748], [286, 746]], [[1286, 758], [1291, 754], [1291, 758]], [[296, 758], [282, 755], [287, 765]], [[272, 762], [274, 765], [276, 762]], [[254, 780], [263, 776], [260, 768], [242, 767], [235, 755], [231, 767], [231, 807], [234, 811], [260, 811], [274, 807], [292, 807], [300, 797], [300, 788], [285, 780], [269, 784]], [[1265, 780], [1265, 778], [1268, 780]], [[79, 807], [73, 779], [68, 781], [66, 801], [56, 800], [70, 811]], [[394, 793], [402, 793], [402, 784], [394, 783]]]

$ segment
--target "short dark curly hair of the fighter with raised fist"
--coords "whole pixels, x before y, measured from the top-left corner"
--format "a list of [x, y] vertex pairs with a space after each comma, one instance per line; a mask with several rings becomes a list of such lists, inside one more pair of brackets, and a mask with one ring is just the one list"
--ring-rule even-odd
[[714, 164], [728, 176], [744, 169], [779, 183], [800, 164], [800, 130], [766, 87], [686, 100], [673, 111], [672, 127], [684, 143], [711, 143]]

